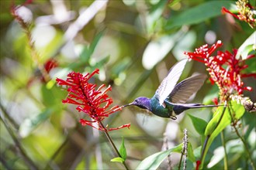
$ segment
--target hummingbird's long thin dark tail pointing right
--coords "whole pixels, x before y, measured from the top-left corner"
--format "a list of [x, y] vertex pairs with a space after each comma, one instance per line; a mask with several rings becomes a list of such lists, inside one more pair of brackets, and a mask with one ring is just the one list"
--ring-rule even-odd
[[202, 107], [220, 107], [225, 105], [204, 105], [204, 104], [173, 104], [173, 110], [175, 114], [181, 114], [183, 111], [192, 108], [202, 108]]

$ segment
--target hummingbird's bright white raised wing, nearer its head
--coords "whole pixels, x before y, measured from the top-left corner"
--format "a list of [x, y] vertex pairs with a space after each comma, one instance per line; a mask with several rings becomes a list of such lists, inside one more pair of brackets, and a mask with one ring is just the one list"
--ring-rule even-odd
[[176, 63], [175, 66], [171, 67], [168, 72], [168, 76], [164, 78], [160, 86], [157, 88], [155, 97], [159, 100], [160, 104], [164, 103], [164, 100], [170, 95], [171, 91], [175, 88], [179, 77], [182, 75], [185, 63], [187, 59], [182, 59], [180, 62]]

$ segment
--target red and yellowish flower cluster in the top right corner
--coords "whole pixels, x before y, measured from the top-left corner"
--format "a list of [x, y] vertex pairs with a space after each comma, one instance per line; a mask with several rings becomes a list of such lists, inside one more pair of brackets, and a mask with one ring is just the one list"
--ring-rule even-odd
[[238, 14], [230, 12], [227, 8], [223, 7], [221, 12], [229, 13], [240, 21], [247, 22], [252, 28], [256, 27], [255, 10], [254, 7], [247, 0], [238, 0], [236, 2]]

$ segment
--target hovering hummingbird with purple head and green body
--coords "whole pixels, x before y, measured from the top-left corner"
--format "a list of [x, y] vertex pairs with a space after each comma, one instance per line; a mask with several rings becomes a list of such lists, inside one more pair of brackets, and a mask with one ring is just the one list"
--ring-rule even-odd
[[160, 86], [157, 88], [154, 97], [137, 97], [132, 103], [123, 107], [135, 105], [142, 109], [147, 109], [151, 113], [159, 117], [170, 117], [175, 120], [176, 115], [181, 114], [184, 110], [201, 107], [218, 107], [220, 105], [204, 105], [204, 104], [185, 104], [185, 102], [196, 93], [206, 80], [206, 75], [197, 74], [178, 82], [182, 75], [187, 59], [172, 66], [168, 72], [168, 76], [164, 78]]

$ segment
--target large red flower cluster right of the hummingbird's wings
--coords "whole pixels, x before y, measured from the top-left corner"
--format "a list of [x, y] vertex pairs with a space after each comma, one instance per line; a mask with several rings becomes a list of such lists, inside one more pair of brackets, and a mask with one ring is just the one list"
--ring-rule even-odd
[[[213, 52], [222, 45], [221, 41], [216, 42], [210, 48], [206, 44], [195, 49], [193, 53], [185, 52], [185, 55], [188, 55], [189, 59], [205, 63], [211, 82], [218, 85], [221, 100], [225, 100], [234, 90], [238, 94], [243, 93], [244, 90], [251, 91], [251, 87], [244, 87], [241, 78], [246, 76], [256, 77], [256, 73], [241, 73], [242, 70], [247, 68], [247, 65], [245, 65], [244, 60], [236, 59], [237, 49], [233, 50], [233, 54], [228, 51], [218, 51], [216, 56], [212, 56]], [[252, 57], [254, 55], [249, 55], [247, 59]]]

